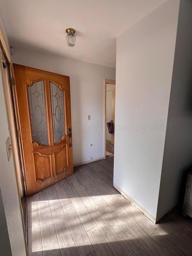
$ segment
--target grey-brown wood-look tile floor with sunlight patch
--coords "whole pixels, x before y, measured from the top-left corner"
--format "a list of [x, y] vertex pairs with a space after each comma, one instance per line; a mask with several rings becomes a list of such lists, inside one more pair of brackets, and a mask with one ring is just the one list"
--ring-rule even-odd
[[27, 198], [29, 256], [192, 255], [192, 222], [154, 224], [113, 188], [113, 157]]

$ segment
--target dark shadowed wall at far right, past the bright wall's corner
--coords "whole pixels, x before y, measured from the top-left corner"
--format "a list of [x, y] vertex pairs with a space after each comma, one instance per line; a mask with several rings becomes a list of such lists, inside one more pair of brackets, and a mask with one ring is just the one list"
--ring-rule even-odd
[[[192, 167], [192, 2], [181, 0], [165, 138], [158, 216], [183, 203]], [[182, 187], [183, 181], [183, 187]], [[182, 189], [182, 190], [181, 190]]]

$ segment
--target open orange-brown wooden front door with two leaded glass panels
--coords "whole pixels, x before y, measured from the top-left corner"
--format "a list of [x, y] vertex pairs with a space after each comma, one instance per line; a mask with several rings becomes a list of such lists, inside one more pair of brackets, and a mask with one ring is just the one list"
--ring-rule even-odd
[[27, 194], [73, 174], [69, 77], [13, 64]]

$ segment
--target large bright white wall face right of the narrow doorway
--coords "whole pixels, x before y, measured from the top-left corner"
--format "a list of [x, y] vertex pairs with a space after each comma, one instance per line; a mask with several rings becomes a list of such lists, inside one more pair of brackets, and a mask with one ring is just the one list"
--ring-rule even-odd
[[117, 38], [114, 184], [155, 219], [179, 0]]

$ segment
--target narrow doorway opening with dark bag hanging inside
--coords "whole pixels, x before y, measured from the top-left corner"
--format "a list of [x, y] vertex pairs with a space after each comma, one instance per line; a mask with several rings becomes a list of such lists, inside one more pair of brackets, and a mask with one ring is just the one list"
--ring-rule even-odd
[[[116, 81], [107, 79], [104, 80], [104, 159], [108, 156], [114, 156], [115, 89]], [[110, 133], [108, 130], [108, 122], [112, 122], [112, 133]]]

